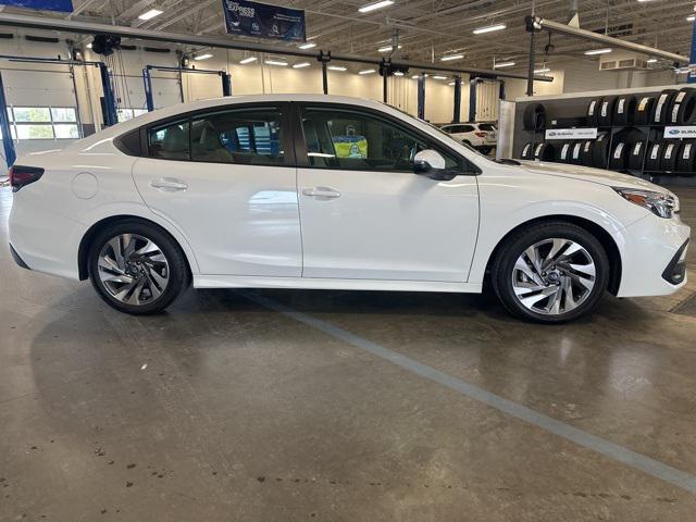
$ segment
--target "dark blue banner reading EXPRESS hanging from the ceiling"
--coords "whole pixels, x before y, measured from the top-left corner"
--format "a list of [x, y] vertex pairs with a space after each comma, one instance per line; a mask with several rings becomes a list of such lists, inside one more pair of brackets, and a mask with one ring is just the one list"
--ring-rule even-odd
[[304, 41], [304, 11], [246, 0], [223, 0], [229, 35]]

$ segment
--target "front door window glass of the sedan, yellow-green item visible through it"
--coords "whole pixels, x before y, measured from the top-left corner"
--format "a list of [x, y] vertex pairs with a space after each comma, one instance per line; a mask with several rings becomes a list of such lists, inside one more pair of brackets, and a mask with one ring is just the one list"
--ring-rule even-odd
[[[309, 164], [320, 169], [410, 172], [419, 151], [435, 148], [385, 119], [344, 109], [304, 109], [302, 130]], [[459, 165], [443, 156], [447, 169]]]

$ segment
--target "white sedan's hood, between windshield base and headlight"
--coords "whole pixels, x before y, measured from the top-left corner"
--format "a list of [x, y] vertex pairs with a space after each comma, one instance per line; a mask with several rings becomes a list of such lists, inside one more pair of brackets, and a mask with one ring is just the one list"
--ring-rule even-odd
[[639, 177], [629, 174], [621, 174], [613, 171], [605, 171], [602, 169], [593, 169], [589, 166], [569, 165], [568, 163], [552, 163], [546, 161], [529, 161], [517, 160], [522, 167], [534, 174], [543, 174], [548, 176], [570, 177], [582, 182], [598, 183], [608, 187], [639, 188], [645, 190], [654, 190], [656, 192], [671, 194], [664, 187], [646, 182]]

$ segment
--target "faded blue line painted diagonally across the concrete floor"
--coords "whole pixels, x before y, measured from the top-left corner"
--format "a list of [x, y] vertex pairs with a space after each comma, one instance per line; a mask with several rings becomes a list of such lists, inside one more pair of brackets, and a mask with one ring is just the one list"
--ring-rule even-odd
[[423, 364], [422, 362], [418, 362], [410, 357], [380, 346], [371, 340], [360, 337], [359, 335], [326, 323], [325, 321], [298, 312], [297, 310], [286, 307], [277, 301], [268, 299], [251, 291], [239, 290], [239, 294], [265, 308], [313, 326], [332, 337], [361, 348], [375, 357], [393, 362], [417, 375], [430, 378], [443, 386], [447, 386], [450, 389], [459, 391], [460, 394], [495, 408], [498, 411], [540, 427], [542, 430], [604, 455], [605, 457], [621, 462], [622, 464], [641, 470], [656, 478], [673, 484], [682, 489], [686, 489], [689, 493], [696, 494], [695, 475], [678, 470], [676, 468], [672, 468], [671, 465], [646, 457], [645, 455], [632, 451], [629, 448], [624, 448], [623, 446], [611, 443], [601, 437], [577, 430], [570, 424], [552, 419], [544, 413], [539, 413], [538, 411], [534, 411], [525, 406], [513, 402], [512, 400], [492, 394], [490, 391], [486, 391], [474, 384], [448, 375], [439, 370], [435, 370], [434, 368]]

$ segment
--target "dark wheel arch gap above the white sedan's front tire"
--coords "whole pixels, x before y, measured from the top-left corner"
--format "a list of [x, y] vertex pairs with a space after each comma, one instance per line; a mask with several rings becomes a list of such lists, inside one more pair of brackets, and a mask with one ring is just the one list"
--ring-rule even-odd
[[566, 222], [579, 226], [589, 234], [595, 236], [597, 240], [601, 244], [605, 251], [607, 252], [607, 257], [609, 258], [609, 286], [608, 289], [612, 295], [617, 295], [619, 291], [619, 286], [621, 285], [621, 274], [622, 274], [622, 261], [621, 261], [621, 252], [619, 250], [619, 246], [614, 241], [611, 234], [607, 232], [601, 225], [594, 223], [585, 217], [579, 217], [576, 215], [568, 215], [568, 214], [556, 214], [556, 215], [545, 215], [542, 217], [535, 217], [533, 220], [525, 221], [524, 223], [520, 223], [514, 228], [508, 231], [508, 233], [502, 236], [495, 248], [490, 252], [488, 257], [488, 262], [486, 263], [485, 276], [486, 279], [490, 275], [490, 268], [496, 260], [496, 257], [499, 254], [501, 247], [506, 244], [506, 241], [519, 232], [521, 228], [527, 227], [530, 225], [535, 225], [538, 223], [549, 223], [549, 222]]

